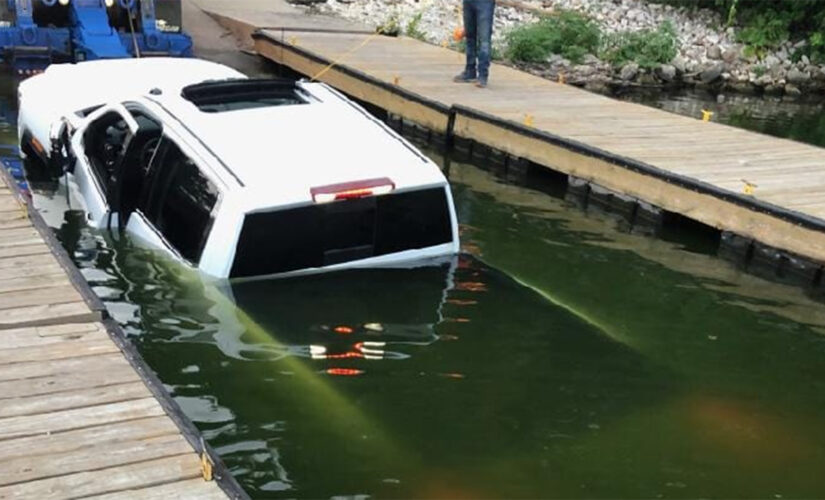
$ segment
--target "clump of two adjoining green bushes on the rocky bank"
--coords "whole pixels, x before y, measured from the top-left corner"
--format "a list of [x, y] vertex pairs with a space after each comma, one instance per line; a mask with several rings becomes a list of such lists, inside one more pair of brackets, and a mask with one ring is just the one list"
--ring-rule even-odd
[[559, 54], [580, 63], [587, 54], [599, 54], [615, 65], [632, 61], [645, 68], [670, 62], [676, 53], [676, 34], [670, 22], [656, 30], [605, 36], [595, 22], [571, 11], [513, 29], [505, 36], [504, 48], [504, 56], [518, 62], [543, 62], [550, 54]]

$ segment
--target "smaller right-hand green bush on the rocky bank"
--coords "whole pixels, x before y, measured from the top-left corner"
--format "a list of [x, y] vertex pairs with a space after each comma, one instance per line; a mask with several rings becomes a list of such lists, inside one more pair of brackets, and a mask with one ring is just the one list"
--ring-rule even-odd
[[667, 21], [656, 30], [625, 31], [606, 37], [601, 58], [615, 66], [632, 61], [643, 68], [655, 68], [672, 61], [676, 54], [676, 31]]

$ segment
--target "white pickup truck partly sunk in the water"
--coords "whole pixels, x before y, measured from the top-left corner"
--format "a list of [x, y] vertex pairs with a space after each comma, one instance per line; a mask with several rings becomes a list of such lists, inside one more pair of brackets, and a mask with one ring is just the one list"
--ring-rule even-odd
[[91, 226], [130, 233], [208, 275], [458, 252], [439, 168], [324, 84], [131, 59], [52, 65], [20, 85], [19, 100], [21, 151], [70, 173]]

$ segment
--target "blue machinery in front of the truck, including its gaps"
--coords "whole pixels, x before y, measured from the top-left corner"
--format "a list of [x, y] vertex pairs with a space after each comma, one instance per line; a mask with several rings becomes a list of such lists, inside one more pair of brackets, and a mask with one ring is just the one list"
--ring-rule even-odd
[[180, 0], [0, 0], [0, 58], [18, 74], [53, 62], [188, 57]]

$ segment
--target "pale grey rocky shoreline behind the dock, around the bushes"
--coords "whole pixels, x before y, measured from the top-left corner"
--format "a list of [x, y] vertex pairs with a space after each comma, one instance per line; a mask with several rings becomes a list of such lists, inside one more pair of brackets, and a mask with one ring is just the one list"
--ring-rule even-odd
[[[304, 3], [307, 0], [297, 0]], [[411, 23], [414, 35], [427, 42], [453, 46], [460, 25], [460, 0], [309, 0], [309, 9], [380, 26], [393, 19], [401, 33]], [[668, 64], [647, 69], [635, 63], [616, 67], [588, 54], [580, 64], [559, 55], [544, 63], [511, 63], [531, 73], [563, 78], [567, 83], [608, 92], [624, 87], [700, 87], [739, 93], [798, 96], [825, 92], [825, 66], [807, 57], [792, 60], [804, 42], [785, 42], [778, 49], [750, 55], [737, 42], [736, 28], [704, 9], [677, 8], [645, 0], [500, 0], [496, 7], [493, 47], [501, 53], [504, 36], [517, 26], [538, 20], [543, 12], [573, 10], [594, 20], [603, 33], [656, 29], [669, 21], [678, 54]]]

